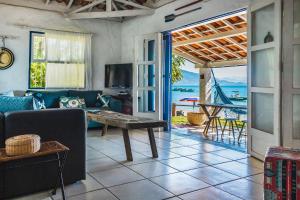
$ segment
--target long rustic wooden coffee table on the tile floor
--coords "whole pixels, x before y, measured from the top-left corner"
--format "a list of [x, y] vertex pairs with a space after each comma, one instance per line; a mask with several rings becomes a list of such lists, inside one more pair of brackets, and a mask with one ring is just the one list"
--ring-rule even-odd
[[154, 120], [143, 117], [135, 117], [132, 115], [125, 115], [113, 111], [88, 111], [87, 118], [89, 120], [104, 124], [102, 136], [107, 133], [108, 126], [118, 127], [122, 129], [126, 156], [128, 161], [133, 160], [128, 130], [146, 128], [148, 130], [152, 156], [153, 158], [158, 157], [153, 128], [166, 127], [167, 122], [162, 120]]

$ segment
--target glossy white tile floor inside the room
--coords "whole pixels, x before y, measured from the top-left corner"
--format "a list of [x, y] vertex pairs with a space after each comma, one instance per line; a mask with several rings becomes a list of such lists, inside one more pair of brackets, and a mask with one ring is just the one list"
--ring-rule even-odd
[[[87, 180], [66, 187], [72, 200], [263, 199], [263, 163], [204, 140], [184, 129], [155, 133], [159, 158], [151, 158], [148, 135], [130, 133], [134, 161], [126, 161], [119, 129], [87, 138]], [[18, 198], [60, 199], [48, 191]]]

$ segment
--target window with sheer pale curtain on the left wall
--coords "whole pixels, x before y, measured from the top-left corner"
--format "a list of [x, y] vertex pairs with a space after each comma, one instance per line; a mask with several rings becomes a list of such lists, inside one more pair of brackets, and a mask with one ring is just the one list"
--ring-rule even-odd
[[75, 33], [31, 32], [29, 88], [84, 88], [86, 53], [90, 52], [86, 38]]

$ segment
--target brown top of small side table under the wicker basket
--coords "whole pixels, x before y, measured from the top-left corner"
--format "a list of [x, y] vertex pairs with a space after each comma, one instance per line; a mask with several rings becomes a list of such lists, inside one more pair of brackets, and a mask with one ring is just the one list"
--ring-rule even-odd
[[60, 153], [64, 151], [68, 151], [69, 148], [64, 146], [63, 144], [57, 141], [49, 141], [41, 144], [41, 149], [32, 154], [20, 155], [20, 156], [8, 156], [6, 155], [5, 148], [0, 149], [0, 163], [16, 161], [25, 158], [34, 158], [41, 157], [46, 155], [51, 155], [55, 153]]

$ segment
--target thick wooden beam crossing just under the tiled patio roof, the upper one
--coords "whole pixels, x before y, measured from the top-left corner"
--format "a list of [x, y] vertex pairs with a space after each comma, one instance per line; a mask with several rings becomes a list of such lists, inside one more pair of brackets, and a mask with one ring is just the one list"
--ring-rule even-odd
[[200, 42], [208, 42], [208, 41], [213, 41], [213, 40], [218, 40], [218, 39], [223, 39], [223, 38], [229, 38], [237, 35], [243, 35], [247, 33], [247, 28], [239, 28], [236, 30], [232, 31], [226, 31], [226, 32], [220, 32], [208, 36], [204, 36], [202, 38], [192, 38], [184, 41], [179, 41], [179, 42], [174, 42], [173, 43], [173, 48], [179, 47], [182, 45], [189, 45], [189, 44], [195, 44], [195, 43], [200, 43]]

